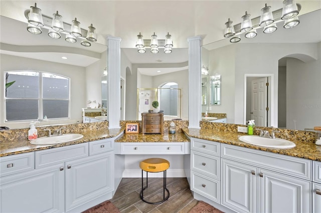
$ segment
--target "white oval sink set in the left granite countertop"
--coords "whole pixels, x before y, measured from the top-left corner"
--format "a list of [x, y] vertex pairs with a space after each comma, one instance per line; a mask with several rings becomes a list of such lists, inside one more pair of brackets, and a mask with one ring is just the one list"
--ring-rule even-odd
[[73, 140], [78, 140], [82, 137], [84, 137], [82, 134], [63, 134], [63, 135], [57, 135], [52, 137], [48, 137], [48, 136], [40, 137], [30, 141], [30, 143], [34, 145], [52, 145], [52, 144], [66, 143]]

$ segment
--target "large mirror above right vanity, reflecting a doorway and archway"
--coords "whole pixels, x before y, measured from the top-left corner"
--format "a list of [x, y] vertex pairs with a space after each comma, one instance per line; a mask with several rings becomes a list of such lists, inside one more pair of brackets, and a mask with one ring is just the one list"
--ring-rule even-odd
[[210, 113], [227, 113], [227, 123], [245, 124], [251, 112], [247, 109], [250, 78], [266, 77], [268, 108], [264, 107], [263, 126], [304, 130], [320, 125], [321, 12], [301, 15], [299, 20], [291, 29], [277, 23], [277, 31], [270, 35], [258, 29], [253, 39], [243, 35], [236, 44], [224, 39], [202, 46], [209, 75], [224, 79], [221, 105], [211, 105]]

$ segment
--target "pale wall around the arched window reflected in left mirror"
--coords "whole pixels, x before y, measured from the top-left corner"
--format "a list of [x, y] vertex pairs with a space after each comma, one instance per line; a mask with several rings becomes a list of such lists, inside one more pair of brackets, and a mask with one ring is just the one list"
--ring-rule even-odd
[[[82, 122], [82, 110], [81, 108], [85, 108], [86, 105], [86, 92], [85, 92], [85, 68], [47, 62], [42, 60], [35, 60], [17, 56], [10, 56], [1, 54], [1, 79], [0, 86], [4, 88], [4, 72], [6, 71], [19, 71], [19, 70], [29, 70], [29, 71], [41, 71], [48, 73], [56, 73], [58, 75], [62, 75], [70, 78], [70, 119], [64, 120], [55, 123], [75, 123], [76, 121]], [[0, 95], [0, 104], [1, 108], [4, 109], [4, 92], [1, 89]], [[4, 110], [0, 112], [1, 117], [1, 126], [8, 126], [11, 129], [16, 128], [27, 128], [29, 127], [29, 123], [5, 123], [4, 121]], [[42, 122], [40, 125], [51, 124], [52, 122]]]

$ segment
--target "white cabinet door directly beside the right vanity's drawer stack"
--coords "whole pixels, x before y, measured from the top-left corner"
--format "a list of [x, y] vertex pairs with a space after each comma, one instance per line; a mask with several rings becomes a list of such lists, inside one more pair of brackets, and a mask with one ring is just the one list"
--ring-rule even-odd
[[221, 160], [221, 203], [238, 212], [257, 212], [257, 167]]

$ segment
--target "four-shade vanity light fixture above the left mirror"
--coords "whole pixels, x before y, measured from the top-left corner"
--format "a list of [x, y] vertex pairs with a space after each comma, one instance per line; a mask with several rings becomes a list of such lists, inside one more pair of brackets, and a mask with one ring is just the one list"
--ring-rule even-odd
[[[80, 22], [77, 21], [77, 18], [72, 21], [72, 24], [64, 23], [58, 11], [52, 17], [43, 15], [41, 9], [37, 8], [36, 3], [35, 6], [30, 7], [30, 10], [25, 11], [25, 17], [28, 19], [27, 30], [32, 34], [41, 34], [42, 28], [44, 28], [48, 30], [48, 36], [53, 39], [60, 39], [61, 34], [64, 34], [66, 35], [66, 42], [76, 43], [76, 38], [79, 38], [82, 39], [80, 44], [85, 47], [90, 47], [90, 42], [97, 42], [96, 29], [92, 24], [86, 31], [80, 28]], [[51, 25], [47, 23], [51, 23]], [[70, 27], [70, 31], [65, 30], [64, 26]], [[83, 35], [86, 35], [86, 37]]]

